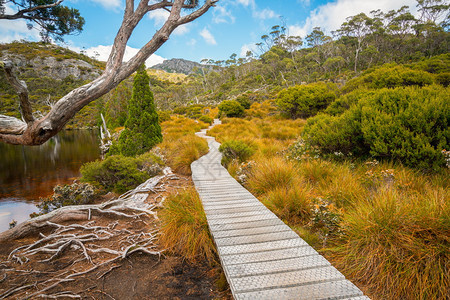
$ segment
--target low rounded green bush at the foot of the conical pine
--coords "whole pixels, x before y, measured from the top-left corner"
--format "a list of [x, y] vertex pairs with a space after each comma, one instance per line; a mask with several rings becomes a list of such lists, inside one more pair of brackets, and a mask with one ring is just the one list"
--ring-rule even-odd
[[81, 169], [81, 181], [89, 182], [103, 191], [124, 193], [155, 175], [154, 164], [160, 160], [152, 154], [125, 157], [112, 155], [105, 160], [96, 160], [84, 164]]

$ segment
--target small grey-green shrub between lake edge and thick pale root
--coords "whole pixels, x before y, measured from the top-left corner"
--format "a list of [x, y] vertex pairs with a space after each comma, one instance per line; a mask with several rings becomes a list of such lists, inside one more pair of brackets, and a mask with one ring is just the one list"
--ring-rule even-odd
[[46, 214], [67, 205], [90, 204], [97, 197], [96, 190], [89, 183], [57, 185], [53, 189], [53, 195], [41, 198], [41, 203], [37, 207], [41, 214]]

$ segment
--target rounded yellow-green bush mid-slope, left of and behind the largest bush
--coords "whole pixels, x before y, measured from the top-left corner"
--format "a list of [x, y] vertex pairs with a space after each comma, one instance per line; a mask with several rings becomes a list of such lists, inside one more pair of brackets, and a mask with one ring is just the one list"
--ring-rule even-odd
[[296, 85], [280, 92], [277, 105], [293, 119], [314, 116], [336, 98], [334, 89], [334, 85], [323, 82]]

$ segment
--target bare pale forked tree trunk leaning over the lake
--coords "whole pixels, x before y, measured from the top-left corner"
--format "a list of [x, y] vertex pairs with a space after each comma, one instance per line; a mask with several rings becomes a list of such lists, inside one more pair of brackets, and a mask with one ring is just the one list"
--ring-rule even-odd
[[[84, 106], [106, 94], [122, 80], [138, 69], [168, 39], [180, 25], [189, 23], [206, 13], [219, 0], [206, 0], [199, 6], [199, 0], [126, 0], [122, 24], [114, 39], [111, 53], [104, 72], [92, 82], [69, 92], [57, 101], [50, 112], [35, 119], [26, 84], [20, 81], [11, 62], [1, 62], [8, 81], [19, 94], [23, 121], [14, 117], [0, 115], [0, 141], [10, 144], [40, 145], [57, 134]], [[125, 48], [134, 29], [150, 11], [164, 10], [169, 17], [162, 27], [128, 62], [123, 62]], [[182, 11], [186, 10], [182, 14]]]

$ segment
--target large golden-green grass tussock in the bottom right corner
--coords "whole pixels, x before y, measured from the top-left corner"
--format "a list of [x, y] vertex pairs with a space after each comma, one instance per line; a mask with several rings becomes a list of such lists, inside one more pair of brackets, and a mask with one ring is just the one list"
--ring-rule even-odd
[[334, 262], [380, 299], [448, 299], [448, 197], [443, 189], [416, 197], [380, 191], [344, 215]]

